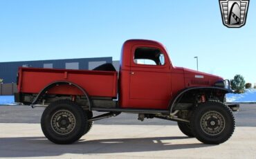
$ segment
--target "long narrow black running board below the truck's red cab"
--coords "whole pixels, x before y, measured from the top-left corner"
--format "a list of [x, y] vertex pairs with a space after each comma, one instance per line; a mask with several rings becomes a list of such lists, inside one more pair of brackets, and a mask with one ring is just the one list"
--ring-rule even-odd
[[170, 114], [169, 110], [165, 109], [117, 109], [117, 108], [100, 108], [92, 107], [92, 111], [109, 111], [109, 112], [125, 112], [125, 113], [163, 113]]

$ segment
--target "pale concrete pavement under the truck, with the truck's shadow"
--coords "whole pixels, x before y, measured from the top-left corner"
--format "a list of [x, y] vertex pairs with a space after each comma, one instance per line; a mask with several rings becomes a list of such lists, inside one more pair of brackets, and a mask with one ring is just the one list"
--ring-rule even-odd
[[0, 158], [255, 158], [256, 127], [237, 127], [219, 145], [187, 138], [176, 126], [96, 124], [79, 142], [57, 145], [39, 124], [0, 124]]

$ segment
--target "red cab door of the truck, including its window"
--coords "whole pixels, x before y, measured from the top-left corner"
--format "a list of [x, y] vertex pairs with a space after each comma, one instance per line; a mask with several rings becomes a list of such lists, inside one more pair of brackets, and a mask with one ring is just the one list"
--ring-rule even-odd
[[131, 49], [130, 105], [139, 109], [167, 109], [170, 99], [170, 64], [154, 46]]

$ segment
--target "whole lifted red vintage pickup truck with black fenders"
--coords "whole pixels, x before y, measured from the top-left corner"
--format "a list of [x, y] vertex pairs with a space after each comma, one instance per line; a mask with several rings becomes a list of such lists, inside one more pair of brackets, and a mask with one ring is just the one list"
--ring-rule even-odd
[[[165, 47], [132, 39], [122, 46], [120, 71], [112, 64], [88, 70], [19, 68], [15, 102], [45, 106], [41, 126], [48, 140], [71, 144], [93, 121], [137, 113], [138, 120], [160, 118], [205, 144], [221, 144], [235, 129], [231, 93], [223, 78], [175, 67]], [[93, 116], [93, 111], [105, 112]]]

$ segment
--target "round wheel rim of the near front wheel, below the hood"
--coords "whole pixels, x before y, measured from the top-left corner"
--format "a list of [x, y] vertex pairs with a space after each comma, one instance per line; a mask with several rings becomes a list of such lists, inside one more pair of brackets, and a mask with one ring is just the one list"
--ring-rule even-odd
[[226, 121], [217, 111], [208, 111], [202, 115], [201, 129], [208, 135], [219, 135], [225, 129]]

